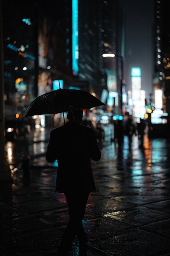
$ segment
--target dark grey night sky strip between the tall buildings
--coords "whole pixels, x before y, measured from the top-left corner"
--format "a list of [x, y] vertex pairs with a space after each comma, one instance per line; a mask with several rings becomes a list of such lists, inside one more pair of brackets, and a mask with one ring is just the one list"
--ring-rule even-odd
[[152, 93], [153, 74], [153, 0], [121, 0], [125, 8], [125, 84], [131, 90], [131, 68], [141, 68], [141, 89]]

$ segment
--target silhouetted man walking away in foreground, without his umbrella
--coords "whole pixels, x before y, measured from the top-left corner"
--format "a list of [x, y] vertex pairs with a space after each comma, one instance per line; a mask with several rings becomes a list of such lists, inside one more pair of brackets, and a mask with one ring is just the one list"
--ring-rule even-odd
[[88, 241], [82, 221], [90, 192], [96, 190], [91, 159], [99, 161], [101, 151], [95, 131], [81, 125], [82, 110], [69, 111], [68, 122], [51, 131], [46, 160], [57, 159], [55, 192], [64, 193], [68, 204], [69, 222], [63, 233], [57, 255], [67, 255], [75, 236], [79, 239], [79, 252]]

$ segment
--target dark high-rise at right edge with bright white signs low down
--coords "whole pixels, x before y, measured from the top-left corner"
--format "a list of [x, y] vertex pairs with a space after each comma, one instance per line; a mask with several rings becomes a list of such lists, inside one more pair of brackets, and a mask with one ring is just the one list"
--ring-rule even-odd
[[153, 26], [153, 91], [148, 105], [153, 108], [150, 114], [151, 131], [154, 136], [167, 137], [170, 113], [170, 3], [154, 1]]

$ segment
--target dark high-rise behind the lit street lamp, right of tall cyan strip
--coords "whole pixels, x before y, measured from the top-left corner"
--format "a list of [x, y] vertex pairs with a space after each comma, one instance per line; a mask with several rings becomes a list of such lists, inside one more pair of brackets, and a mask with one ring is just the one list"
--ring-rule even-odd
[[[79, 80], [89, 81], [107, 111], [121, 113], [123, 11], [119, 1], [79, 1]], [[104, 58], [103, 54], [115, 54]], [[118, 57], [119, 56], [119, 57]], [[119, 95], [119, 96], [118, 96]]]

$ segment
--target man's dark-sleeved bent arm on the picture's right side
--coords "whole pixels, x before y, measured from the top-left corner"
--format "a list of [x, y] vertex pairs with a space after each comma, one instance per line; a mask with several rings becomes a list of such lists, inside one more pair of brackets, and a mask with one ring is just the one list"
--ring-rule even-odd
[[99, 161], [101, 158], [101, 151], [97, 143], [95, 131], [91, 129], [90, 131], [90, 157], [94, 161]]

